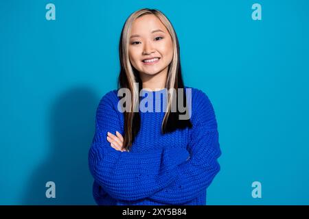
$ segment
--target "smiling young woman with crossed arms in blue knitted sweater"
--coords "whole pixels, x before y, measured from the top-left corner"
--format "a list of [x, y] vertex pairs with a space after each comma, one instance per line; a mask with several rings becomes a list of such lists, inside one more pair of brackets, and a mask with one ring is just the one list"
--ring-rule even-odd
[[[96, 203], [205, 205], [220, 170], [216, 116], [203, 91], [184, 86], [179, 42], [168, 18], [150, 9], [131, 14], [119, 58], [119, 88], [98, 105], [89, 150]], [[119, 96], [124, 90], [129, 95]]]

